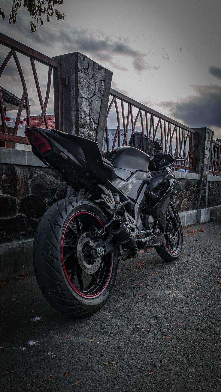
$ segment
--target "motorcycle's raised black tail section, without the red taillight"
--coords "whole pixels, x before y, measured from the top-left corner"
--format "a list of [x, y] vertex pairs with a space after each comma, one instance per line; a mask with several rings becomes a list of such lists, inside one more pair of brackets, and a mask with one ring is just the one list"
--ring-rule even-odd
[[71, 187], [76, 188], [77, 181], [80, 187], [86, 188], [93, 188], [95, 183], [107, 183], [107, 174], [96, 142], [56, 129], [37, 127], [26, 129], [27, 138], [30, 131], [39, 132], [51, 144], [51, 151], [39, 154], [33, 146], [33, 153]]

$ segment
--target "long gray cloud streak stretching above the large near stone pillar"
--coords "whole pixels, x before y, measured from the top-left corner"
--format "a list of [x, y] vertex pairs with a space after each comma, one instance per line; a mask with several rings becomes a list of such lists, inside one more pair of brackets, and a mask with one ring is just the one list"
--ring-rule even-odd
[[[93, 56], [96, 61], [110, 62], [113, 66], [115, 57], [120, 55], [132, 59], [132, 66], [137, 73], [147, 69], [150, 70], [152, 67], [156, 69], [155, 66], [145, 61], [148, 53], [141, 53], [133, 49], [130, 43], [122, 37], [104, 35], [99, 31], [91, 33], [91, 31], [85, 28], [77, 29], [64, 24], [59, 24], [55, 27], [52, 23], [45, 24], [44, 29], [39, 27], [36, 33], [30, 34], [27, 21], [18, 16], [17, 23], [15, 26], [12, 26], [12, 29], [14, 33], [18, 32], [21, 42], [26, 42], [28, 36], [29, 45], [33, 46], [33, 48], [40, 46], [40, 51], [45, 53], [47, 53], [48, 47], [54, 48], [55, 51], [58, 48], [62, 48], [63, 53], [79, 51]], [[118, 65], [117, 69], [120, 69], [119, 67]], [[121, 70], [127, 71], [127, 67], [121, 67]]]

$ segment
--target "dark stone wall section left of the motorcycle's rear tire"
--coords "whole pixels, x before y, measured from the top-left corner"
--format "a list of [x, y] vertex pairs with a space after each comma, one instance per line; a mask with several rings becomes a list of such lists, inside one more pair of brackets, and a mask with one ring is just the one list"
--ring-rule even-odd
[[0, 242], [33, 238], [41, 216], [66, 190], [51, 169], [0, 163]]

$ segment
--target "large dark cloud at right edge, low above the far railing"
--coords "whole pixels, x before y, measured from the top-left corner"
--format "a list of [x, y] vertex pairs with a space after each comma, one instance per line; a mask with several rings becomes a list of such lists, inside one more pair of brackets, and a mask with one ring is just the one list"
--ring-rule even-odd
[[196, 95], [188, 96], [179, 102], [161, 102], [169, 109], [170, 115], [190, 127], [221, 128], [221, 86], [194, 85]]

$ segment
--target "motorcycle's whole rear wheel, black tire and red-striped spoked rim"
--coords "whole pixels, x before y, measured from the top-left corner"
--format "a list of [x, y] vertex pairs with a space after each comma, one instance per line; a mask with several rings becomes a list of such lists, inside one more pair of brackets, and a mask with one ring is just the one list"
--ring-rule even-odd
[[39, 222], [33, 245], [38, 285], [59, 312], [84, 317], [110, 297], [117, 278], [117, 248], [97, 259], [90, 249], [107, 223], [88, 200], [68, 198], [52, 205]]

